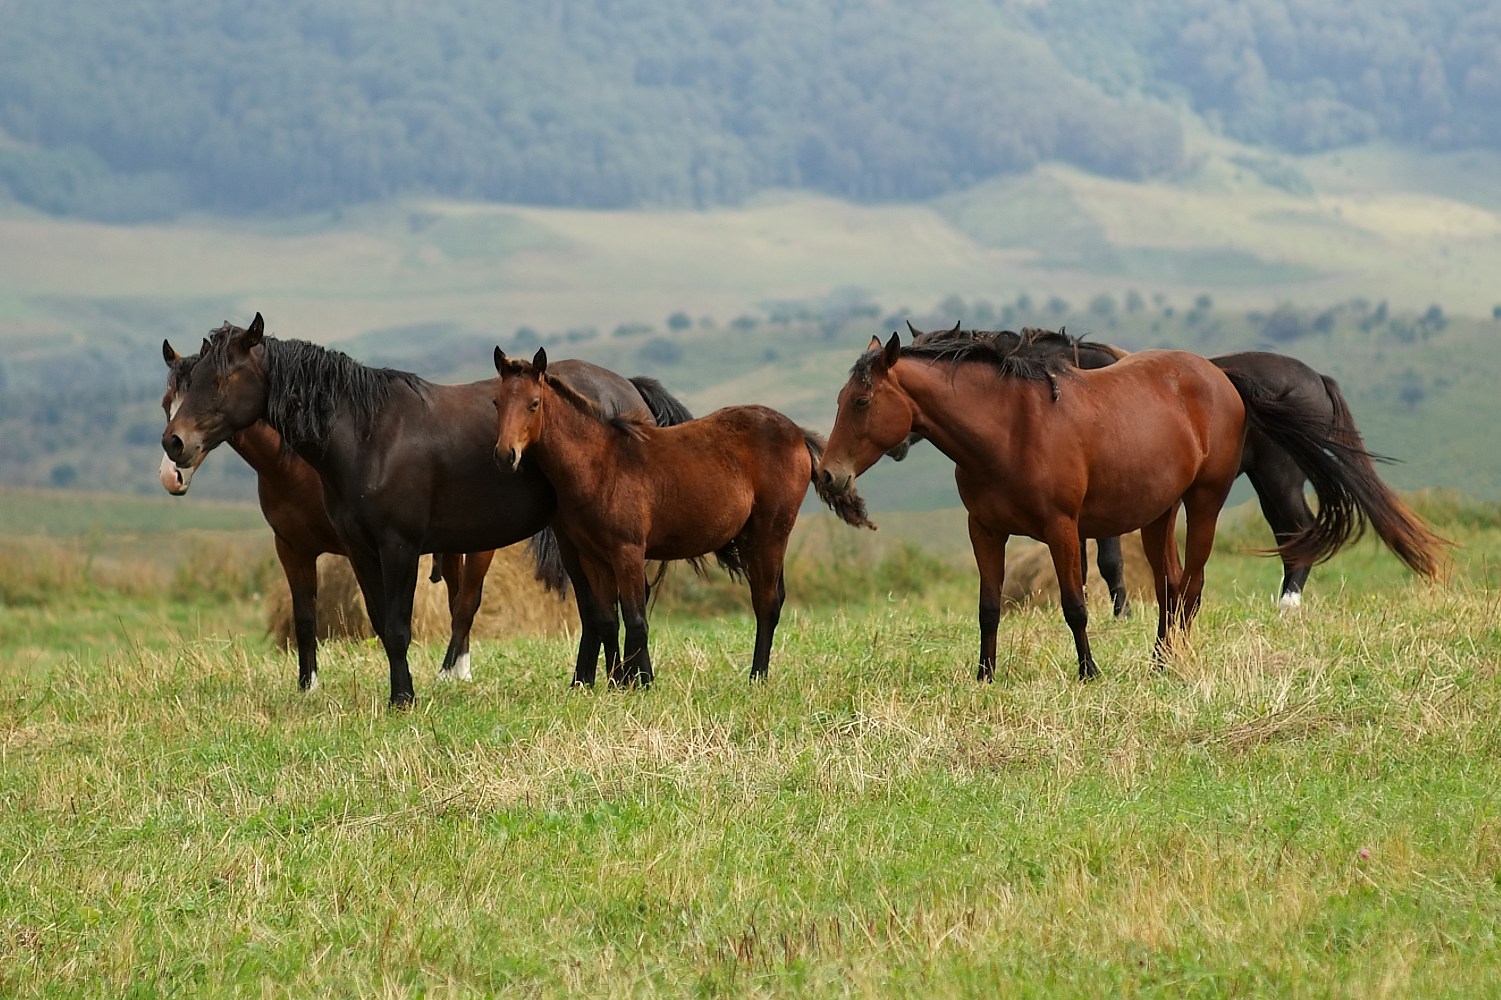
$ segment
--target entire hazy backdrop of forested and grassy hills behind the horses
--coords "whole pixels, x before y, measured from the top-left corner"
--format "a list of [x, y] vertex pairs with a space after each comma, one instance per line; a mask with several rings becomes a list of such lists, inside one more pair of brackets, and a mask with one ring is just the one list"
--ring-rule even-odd
[[[1501, 9], [0, 0], [0, 482], [159, 489], [161, 341], [261, 311], [827, 429], [871, 333], [1067, 326], [1340, 378], [1501, 495]], [[195, 494], [248, 497], [237, 459]], [[935, 456], [872, 500], [953, 503]]]

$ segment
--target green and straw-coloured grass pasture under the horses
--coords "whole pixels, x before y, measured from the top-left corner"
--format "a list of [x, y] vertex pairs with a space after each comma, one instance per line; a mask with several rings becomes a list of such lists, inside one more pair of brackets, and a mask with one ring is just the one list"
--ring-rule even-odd
[[[1462, 545], [1447, 586], [1367, 541], [1292, 616], [1238, 511], [1162, 674], [1150, 607], [1091, 593], [1097, 682], [1036, 608], [977, 685], [953, 517], [875, 512], [926, 572], [805, 533], [766, 685], [743, 589], [693, 614], [695, 584], [650, 691], [567, 691], [569, 638], [479, 643], [440, 688], [434, 643], [408, 712], [362, 643], [300, 695], [219, 536], [62, 584], [11, 550], [0, 994], [1486, 992], [1501, 512], [1420, 509]], [[216, 559], [243, 572], [206, 593]]]

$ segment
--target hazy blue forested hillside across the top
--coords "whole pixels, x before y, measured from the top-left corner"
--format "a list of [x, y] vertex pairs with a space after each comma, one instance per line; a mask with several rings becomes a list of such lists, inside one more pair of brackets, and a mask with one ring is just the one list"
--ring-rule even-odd
[[1501, 144], [1490, 0], [8, 0], [0, 24], [0, 197], [101, 219], [1145, 177], [1180, 165], [1184, 110], [1297, 152]]

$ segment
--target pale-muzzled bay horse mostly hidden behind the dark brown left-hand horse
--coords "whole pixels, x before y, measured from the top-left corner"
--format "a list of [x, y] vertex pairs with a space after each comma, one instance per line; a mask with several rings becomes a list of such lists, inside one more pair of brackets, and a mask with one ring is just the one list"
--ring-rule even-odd
[[[173, 350], [170, 342], [162, 341], [162, 357], [167, 362], [162, 410], [171, 419], [188, 389], [198, 356], [185, 357]], [[324, 553], [344, 556], [344, 542], [339, 541], [333, 523], [323, 509], [323, 482], [318, 473], [290, 447], [284, 447], [281, 434], [269, 423], [257, 420], [243, 431], [231, 434], [227, 443], [255, 471], [255, 492], [261, 514], [272, 529], [276, 560], [291, 593], [297, 686], [312, 691], [318, 686], [318, 556]], [[188, 468], [179, 468], [173, 459], [162, 455], [159, 470], [162, 488], [174, 497], [185, 495], [194, 473], [207, 455], [209, 452], [200, 453], [198, 462]], [[533, 554], [537, 557], [537, 580], [554, 589], [563, 574], [555, 551], [555, 547], [533, 547]], [[470, 680], [473, 676], [470, 631], [474, 628], [474, 614], [483, 595], [485, 574], [494, 557], [494, 551], [434, 556], [434, 575], [441, 577], [449, 590], [449, 646], [438, 670], [440, 682]]]

